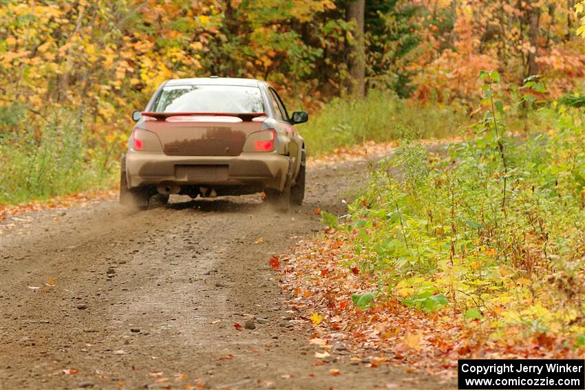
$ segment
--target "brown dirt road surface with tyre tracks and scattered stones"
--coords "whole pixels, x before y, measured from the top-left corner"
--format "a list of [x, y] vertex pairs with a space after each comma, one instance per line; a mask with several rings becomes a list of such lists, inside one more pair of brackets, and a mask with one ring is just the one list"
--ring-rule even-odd
[[352, 364], [343, 351], [314, 365], [321, 350], [283, 304], [268, 265], [322, 228], [315, 208], [343, 212], [341, 200], [366, 171], [365, 162], [310, 169], [306, 203], [287, 215], [256, 195], [177, 197], [138, 213], [112, 200], [7, 219], [0, 388], [449, 387]]

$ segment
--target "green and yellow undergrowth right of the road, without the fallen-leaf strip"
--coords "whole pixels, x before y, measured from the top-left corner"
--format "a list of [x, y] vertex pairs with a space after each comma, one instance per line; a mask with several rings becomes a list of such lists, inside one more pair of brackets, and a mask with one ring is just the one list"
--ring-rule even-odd
[[448, 301], [466, 321], [489, 318], [494, 336], [583, 334], [584, 111], [538, 113], [551, 131], [528, 140], [504, 138], [502, 123], [496, 135], [490, 119], [447, 155], [403, 142], [350, 206], [350, 266], [405, 305]]

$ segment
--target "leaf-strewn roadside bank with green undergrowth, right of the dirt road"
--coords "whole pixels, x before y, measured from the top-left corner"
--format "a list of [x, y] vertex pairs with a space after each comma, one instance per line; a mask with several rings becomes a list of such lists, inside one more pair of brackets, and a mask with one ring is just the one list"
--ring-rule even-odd
[[403, 142], [348, 215], [323, 213], [283, 279], [326, 345], [434, 372], [585, 354], [585, 117], [538, 115], [551, 130], [528, 140], [489, 118], [446, 155]]

